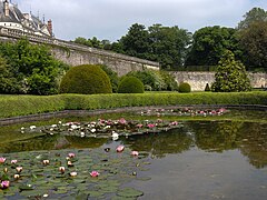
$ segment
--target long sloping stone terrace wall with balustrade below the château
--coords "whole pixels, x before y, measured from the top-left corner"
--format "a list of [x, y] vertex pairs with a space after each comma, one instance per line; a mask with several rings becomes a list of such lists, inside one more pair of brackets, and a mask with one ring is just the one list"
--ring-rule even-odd
[[51, 46], [55, 58], [70, 66], [107, 64], [119, 76], [123, 76], [129, 71], [144, 70], [146, 68], [159, 70], [158, 62], [89, 48], [56, 38], [30, 34], [20, 30], [0, 27], [0, 40], [2, 41], [13, 41], [20, 39], [21, 37], [27, 37], [32, 43], [44, 43]]

